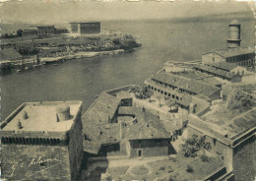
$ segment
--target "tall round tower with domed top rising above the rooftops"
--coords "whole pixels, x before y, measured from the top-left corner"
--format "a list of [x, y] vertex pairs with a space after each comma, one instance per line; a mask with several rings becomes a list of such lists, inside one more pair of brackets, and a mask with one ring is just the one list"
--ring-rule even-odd
[[229, 24], [227, 48], [238, 48], [240, 47], [240, 27], [238, 21], [232, 20]]

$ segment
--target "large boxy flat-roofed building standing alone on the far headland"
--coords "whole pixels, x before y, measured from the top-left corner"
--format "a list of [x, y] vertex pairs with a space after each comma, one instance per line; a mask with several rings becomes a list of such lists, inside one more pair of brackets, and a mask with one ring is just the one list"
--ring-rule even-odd
[[70, 23], [72, 33], [92, 34], [100, 33], [100, 22]]

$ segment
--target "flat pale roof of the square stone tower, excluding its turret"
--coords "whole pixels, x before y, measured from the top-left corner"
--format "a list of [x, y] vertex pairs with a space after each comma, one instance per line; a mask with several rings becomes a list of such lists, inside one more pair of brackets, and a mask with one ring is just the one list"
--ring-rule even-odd
[[[56, 106], [63, 102], [30, 102], [22, 104], [3, 123], [2, 131], [57, 131], [70, 130], [74, 118], [82, 105], [81, 101], [66, 101], [70, 106], [70, 119], [57, 122]], [[24, 119], [24, 113], [28, 112], [28, 119]], [[18, 122], [22, 123], [22, 129], [17, 128]]]

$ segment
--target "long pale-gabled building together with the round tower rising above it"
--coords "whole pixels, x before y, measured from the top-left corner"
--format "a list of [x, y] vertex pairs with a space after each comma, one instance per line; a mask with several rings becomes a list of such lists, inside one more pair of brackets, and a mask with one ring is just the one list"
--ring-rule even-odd
[[233, 20], [229, 24], [227, 49], [208, 52], [202, 55], [203, 64], [227, 62], [240, 66], [255, 65], [255, 48], [240, 47], [240, 24]]

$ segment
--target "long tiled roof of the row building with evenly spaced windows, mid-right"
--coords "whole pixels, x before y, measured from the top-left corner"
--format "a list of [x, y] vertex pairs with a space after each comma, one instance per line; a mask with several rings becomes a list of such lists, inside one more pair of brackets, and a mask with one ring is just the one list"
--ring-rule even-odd
[[174, 87], [180, 88], [186, 91], [192, 91], [195, 93], [203, 93], [207, 96], [213, 94], [215, 91], [219, 91], [219, 88], [213, 87], [211, 85], [202, 83], [197, 80], [187, 79], [181, 76], [176, 76], [173, 74], [156, 74], [152, 77], [154, 80], [172, 85]]

